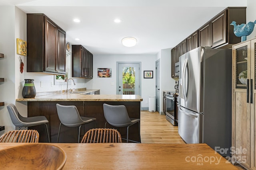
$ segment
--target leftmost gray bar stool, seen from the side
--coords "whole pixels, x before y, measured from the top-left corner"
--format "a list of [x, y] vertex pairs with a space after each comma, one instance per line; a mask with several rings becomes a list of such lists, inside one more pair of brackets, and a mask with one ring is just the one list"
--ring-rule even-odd
[[16, 106], [14, 104], [9, 104], [7, 106], [8, 112], [10, 114], [12, 123], [19, 128], [19, 130], [22, 127], [30, 127], [30, 126], [36, 126], [36, 125], [45, 125], [46, 128], [46, 134], [48, 137], [48, 141], [50, 141], [50, 135], [47, 127], [47, 123], [49, 123], [48, 119], [46, 119], [45, 116], [33, 116], [33, 117], [23, 117], [18, 112]]

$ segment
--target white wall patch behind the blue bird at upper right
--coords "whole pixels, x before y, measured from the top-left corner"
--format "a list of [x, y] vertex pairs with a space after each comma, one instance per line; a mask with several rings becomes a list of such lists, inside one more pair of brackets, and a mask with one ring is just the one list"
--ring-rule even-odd
[[[248, 23], [249, 21], [254, 22], [255, 20], [256, 20], [256, 0], [247, 0], [246, 23]], [[256, 25], [252, 33], [247, 36], [247, 39], [252, 39], [254, 37], [256, 37]]]

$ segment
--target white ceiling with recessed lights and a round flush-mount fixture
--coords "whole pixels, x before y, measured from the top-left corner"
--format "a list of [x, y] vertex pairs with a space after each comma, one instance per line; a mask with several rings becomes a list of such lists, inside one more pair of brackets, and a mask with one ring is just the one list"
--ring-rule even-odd
[[[247, 6], [247, 0], [0, 0], [0, 5], [45, 14], [66, 31], [67, 42], [94, 55], [156, 54], [176, 46], [226, 7]], [[116, 18], [122, 22], [114, 23]], [[137, 45], [124, 47], [124, 37], [135, 37]]]

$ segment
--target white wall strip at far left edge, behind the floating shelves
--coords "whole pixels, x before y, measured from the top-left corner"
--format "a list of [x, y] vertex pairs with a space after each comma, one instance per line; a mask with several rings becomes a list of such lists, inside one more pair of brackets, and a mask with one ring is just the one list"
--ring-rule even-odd
[[4, 82], [0, 82], [0, 102], [5, 103], [5, 106], [0, 107], [0, 125], [9, 130], [14, 128], [6, 109], [8, 104], [15, 103], [14, 6], [0, 6], [0, 16], [0, 53], [4, 54], [4, 58], [0, 59], [0, 77], [4, 78]]

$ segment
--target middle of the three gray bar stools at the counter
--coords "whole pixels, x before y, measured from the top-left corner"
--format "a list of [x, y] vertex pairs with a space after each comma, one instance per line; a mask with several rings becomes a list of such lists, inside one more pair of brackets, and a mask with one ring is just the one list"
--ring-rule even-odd
[[[60, 119], [60, 127], [62, 124], [67, 127], [79, 127], [78, 143], [80, 141], [80, 128], [82, 125], [85, 125], [87, 123], [94, 121], [95, 127], [96, 127], [96, 118], [80, 116], [76, 106], [63, 106], [60, 104], [56, 104], [56, 107], [57, 107], [58, 117]], [[60, 127], [58, 132], [57, 143], [59, 142], [59, 137], [60, 137]]]

